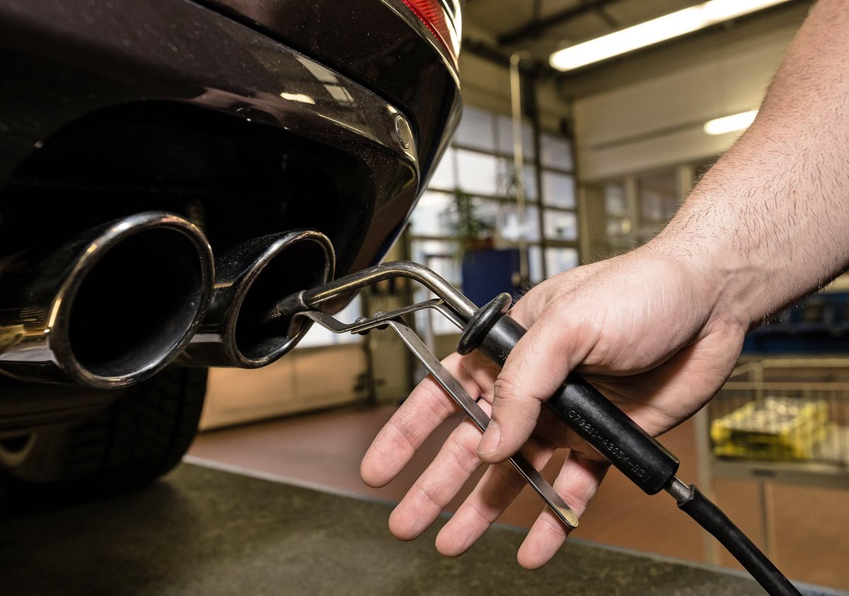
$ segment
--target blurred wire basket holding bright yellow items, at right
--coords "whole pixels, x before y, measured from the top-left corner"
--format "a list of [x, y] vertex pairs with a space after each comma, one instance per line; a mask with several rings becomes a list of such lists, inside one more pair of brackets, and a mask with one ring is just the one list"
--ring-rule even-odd
[[849, 358], [741, 364], [709, 411], [717, 458], [849, 469]]

